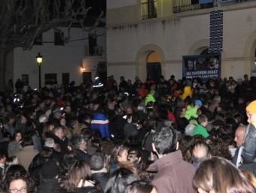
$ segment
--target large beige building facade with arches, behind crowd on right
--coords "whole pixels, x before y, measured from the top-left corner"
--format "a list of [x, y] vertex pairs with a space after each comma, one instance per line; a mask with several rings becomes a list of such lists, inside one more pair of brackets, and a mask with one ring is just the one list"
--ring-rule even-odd
[[250, 77], [256, 68], [256, 2], [232, 0], [108, 0], [108, 75], [181, 79], [183, 56], [208, 53], [210, 13], [218, 10], [223, 11], [221, 77]]

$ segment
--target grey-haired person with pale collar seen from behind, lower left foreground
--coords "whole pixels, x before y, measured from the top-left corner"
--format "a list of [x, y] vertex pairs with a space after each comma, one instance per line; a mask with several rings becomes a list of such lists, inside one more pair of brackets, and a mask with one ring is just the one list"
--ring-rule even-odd
[[109, 178], [108, 170], [105, 168], [104, 155], [100, 152], [96, 152], [90, 158], [90, 167], [92, 169], [93, 179], [98, 180], [102, 189], [104, 189]]

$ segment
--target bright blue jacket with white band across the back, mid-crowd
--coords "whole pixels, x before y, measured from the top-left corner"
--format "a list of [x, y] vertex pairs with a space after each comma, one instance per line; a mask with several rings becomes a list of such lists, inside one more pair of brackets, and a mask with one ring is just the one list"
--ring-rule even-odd
[[108, 133], [108, 119], [104, 114], [96, 113], [93, 116], [93, 120], [91, 122], [91, 128], [92, 129], [98, 128], [100, 133], [102, 134], [102, 137], [110, 138], [110, 135]]

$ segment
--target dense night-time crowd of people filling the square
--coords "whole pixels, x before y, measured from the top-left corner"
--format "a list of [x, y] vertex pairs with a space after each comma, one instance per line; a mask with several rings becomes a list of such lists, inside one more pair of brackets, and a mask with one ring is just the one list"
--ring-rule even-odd
[[98, 85], [0, 95], [1, 192], [256, 192], [254, 77]]

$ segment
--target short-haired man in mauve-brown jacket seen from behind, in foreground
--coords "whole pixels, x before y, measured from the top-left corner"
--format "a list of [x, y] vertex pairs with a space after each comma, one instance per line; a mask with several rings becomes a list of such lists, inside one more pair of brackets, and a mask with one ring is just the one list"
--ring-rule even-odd
[[157, 172], [152, 181], [157, 192], [197, 192], [192, 185], [196, 168], [183, 160], [175, 129], [157, 129], [152, 146], [159, 159], [148, 167], [148, 171]]

